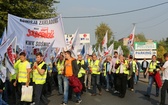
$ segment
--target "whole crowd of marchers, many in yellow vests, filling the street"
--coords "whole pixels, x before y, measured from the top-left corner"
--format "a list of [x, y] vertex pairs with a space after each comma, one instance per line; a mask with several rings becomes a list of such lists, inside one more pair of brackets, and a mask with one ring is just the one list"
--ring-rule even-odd
[[[163, 71], [163, 86], [161, 89], [160, 105], [165, 105], [165, 94], [168, 89], [168, 53], [164, 54], [165, 63], [160, 65], [155, 55], [150, 62], [146, 59], [140, 64], [132, 55], [125, 57], [114, 52], [114, 56], [104, 57], [96, 54], [83, 57], [78, 54], [72, 57], [71, 51], [61, 52], [57, 58], [51, 59], [51, 64], [43, 61], [42, 53], [36, 53], [36, 60], [30, 62], [26, 59], [26, 53], [17, 54], [14, 64], [15, 74], [8, 75], [5, 83], [0, 80], [0, 105], [47, 105], [50, 100], [47, 96], [52, 93], [53, 87], [57, 87], [59, 96], [63, 96], [61, 105], [67, 105], [68, 100], [76, 97], [76, 104], [82, 102], [82, 94], [87, 92], [91, 96], [102, 95], [102, 89], [113, 92], [120, 98], [124, 98], [126, 90], [134, 91], [134, 85], [138, 83], [140, 70], [143, 70], [144, 78], [149, 74], [149, 83], [146, 97], [150, 97], [152, 84], [156, 82], [156, 97], [159, 96], [156, 73]], [[5, 66], [3, 60], [1, 69]], [[21, 101], [22, 86], [33, 86], [32, 102]], [[98, 90], [98, 91], [97, 91]], [[10, 97], [12, 97], [10, 99]]]

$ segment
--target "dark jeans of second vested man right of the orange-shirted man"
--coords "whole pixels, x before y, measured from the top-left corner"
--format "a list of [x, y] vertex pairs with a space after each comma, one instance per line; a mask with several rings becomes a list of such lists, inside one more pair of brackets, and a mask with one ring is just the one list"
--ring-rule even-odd
[[100, 86], [100, 75], [99, 74], [92, 74], [92, 85], [93, 85], [93, 94], [96, 94], [96, 87], [98, 88], [99, 92], [101, 92]]

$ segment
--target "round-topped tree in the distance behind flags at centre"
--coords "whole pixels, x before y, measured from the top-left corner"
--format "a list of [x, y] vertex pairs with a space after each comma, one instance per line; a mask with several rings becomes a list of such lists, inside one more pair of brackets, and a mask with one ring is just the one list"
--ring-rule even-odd
[[112, 40], [111, 37], [113, 35], [112, 30], [110, 29], [110, 27], [107, 24], [101, 23], [99, 26], [97, 26], [96, 31], [95, 31], [95, 38], [97, 40], [96, 45], [95, 45], [96, 49], [98, 48], [99, 44], [101, 46], [101, 43], [102, 43], [102, 40], [106, 34], [106, 31], [108, 31], [108, 42], [107, 42], [108, 44], [107, 44], [107, 46], [110, 46], [110, 44], [112, 43], [112, 41], [111, 41]]

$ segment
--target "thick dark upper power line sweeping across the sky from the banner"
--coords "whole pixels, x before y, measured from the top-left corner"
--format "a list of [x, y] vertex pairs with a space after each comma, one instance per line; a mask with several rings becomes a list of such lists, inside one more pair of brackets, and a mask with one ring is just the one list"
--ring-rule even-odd
[[116, 13], [111, 13], [111, 14], [103, 14], [103, 15], [88, 15], [88, 16], [65, 16], [62, 18], [95, 18], [95, 17], [105, 17], [105, 16], [112, 16], [112, 15], [121, 15], [121, 14], [126, 14], [126, 13], [131, 13], [131, 12], [137, 12], [137, 11], [142, 11], [142, 10], [146, 10], [146, 9], [150, 9], [150, 8], [154, 8], [154, 7], [158, 7], [164, 4], [168, 4], [168, 2], [163, 2], [160, 4], [156, 4], [153, 6], [148, 6], [148, 7], [144, 7], [144, 8], [139, 8], [139, 9], [134, 9], [134, 10], [129, 10], [129, 11], [123, 11], [123, 12], [116, 12]]

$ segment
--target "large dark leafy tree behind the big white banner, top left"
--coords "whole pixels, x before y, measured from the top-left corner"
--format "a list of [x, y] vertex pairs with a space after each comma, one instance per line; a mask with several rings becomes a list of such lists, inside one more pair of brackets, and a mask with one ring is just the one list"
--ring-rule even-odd
[[55, 17], [54, 0], [0, 0], [0, 36], [7, 26], [8, 13], [30, 19]]

